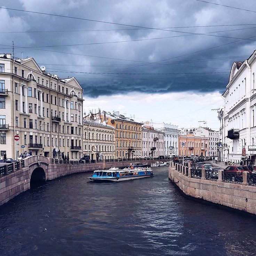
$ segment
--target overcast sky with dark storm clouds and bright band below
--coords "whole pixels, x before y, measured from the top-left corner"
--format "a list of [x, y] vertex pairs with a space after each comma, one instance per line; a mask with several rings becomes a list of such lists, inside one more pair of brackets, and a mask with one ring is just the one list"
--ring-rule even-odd
[[[208, 2], [256, 10], [255, 0]], [[75, 76], [86, 112], [119, 110], [180, 128], [207, 121], [218, 129], [212, 109], [222, 105], [231, 65], [256, 43], [256, 12], [198, 0], [1, 0], [0, 7], [62, 16], [1, 8], [0, 52], [12, 52], [14, 41], [16, 57], [23, 51], [50, 73]]]

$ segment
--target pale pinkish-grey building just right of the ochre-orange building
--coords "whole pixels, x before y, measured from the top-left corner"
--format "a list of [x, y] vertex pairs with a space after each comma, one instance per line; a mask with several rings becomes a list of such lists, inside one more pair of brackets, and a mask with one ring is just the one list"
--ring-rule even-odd
[[163, 155], [164, 133], [153, 126], [142, 127], [142, 157], [159, 157]]

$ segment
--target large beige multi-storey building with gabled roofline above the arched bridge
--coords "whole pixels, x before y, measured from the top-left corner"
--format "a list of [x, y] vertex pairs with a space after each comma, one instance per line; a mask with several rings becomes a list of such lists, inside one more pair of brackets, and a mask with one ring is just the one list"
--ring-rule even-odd
[[[7, 157], [33, 155], [70, 160], [82, 157], [83, 90], [73, 78], [60, 79], [33, 58], [0, 55], [0, 150]], [[20, 139], [16, 146], [14, 135]]]

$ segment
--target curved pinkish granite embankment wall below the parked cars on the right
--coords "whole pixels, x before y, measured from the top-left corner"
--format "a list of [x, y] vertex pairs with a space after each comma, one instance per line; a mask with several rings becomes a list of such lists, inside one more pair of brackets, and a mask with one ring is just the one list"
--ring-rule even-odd
[[206, 179], [203, 171], [201, 178], [191, 178], [190, 167], [171, 163], [168, 173], [186, 195], [256, 214], [256, 186], [247, 184], [247, 172], [243, 173], [243, 183], [235, 184], [223, 182], [222, 171], [216, 181]]

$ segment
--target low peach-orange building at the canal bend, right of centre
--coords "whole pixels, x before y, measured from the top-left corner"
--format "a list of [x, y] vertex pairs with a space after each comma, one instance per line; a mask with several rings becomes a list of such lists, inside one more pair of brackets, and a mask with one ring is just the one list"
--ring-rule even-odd
[[190, 157], [192, 155], [208, 156], [209, 139], [182, 131], [178, 137], [178, 155]]

